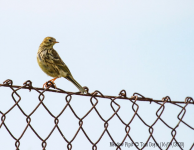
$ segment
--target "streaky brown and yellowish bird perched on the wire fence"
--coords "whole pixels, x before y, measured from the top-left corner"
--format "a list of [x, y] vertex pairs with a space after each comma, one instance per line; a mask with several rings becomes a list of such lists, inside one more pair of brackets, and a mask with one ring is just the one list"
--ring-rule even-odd
[[[59, 42], [57, 42], [56, 39], [53, 37], [44, 38], [37, 52], [38, 65], [43, 72], [51, 77], [54, 77], [53, 79], [49, 80], [53, 83], [54, 86], [54, 81], [56, 79], [64, 77], [72, 82], [82, 94], [86, 93], [86, 90], [73, 78], [69, 68], [60, 58], [57, 51], [54, 50], [53, 46], [56, 43]], [[47, 82], [43, 84], [43, 88], [44, 87], [47, 87]]]

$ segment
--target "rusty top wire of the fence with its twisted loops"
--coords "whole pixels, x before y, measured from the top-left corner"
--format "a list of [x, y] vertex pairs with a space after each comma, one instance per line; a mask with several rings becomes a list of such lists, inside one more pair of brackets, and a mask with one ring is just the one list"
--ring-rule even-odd
[[[48, 85], [48, 83], [51, 83]], [[47, 88], [39, 88], [39, 87], [33, 87], [32, 82], [30, 80], [27, 80], [24, 82], [23, 86], [18, 86], [18, 85], [13, 85], [13, 81], [8, 79], [3, 82], [3, 84], [0, 84], [0, 87], [10, 87], [10, 88], [17, 88], [17, 89], [28, 89], [29, 91], [31, 90], [38, 90], [38, 91], [48, 91], [48, 92], [55, 92], [55, 93], [64, 93], [64, 94], [69, 94], [69, 95], [79, 95], [79, 96], [89, 96], [89, 97], [99, 97], [99, 98], [105, 98], [105, 99], [123, 99], [123, 100], [136, 100], [136, 101], [145, 101], [145, 102], [157, 102], [157, 103], [163, 103], [165, 98], [168, 98], [166, 103], [172, 103], [172, 104], [194, 104], [194, 100], [192, 97], [186, 97], [185, 101], [173, 101], [170, 99], [169, 96], [164, 97], [162, 100], [156, 100], [148, 97], [144, 97], [143, 95], [139, 93], [134, 93], [133, 96], [127, 97], [127, 92], [125, 90], [121, 90], [119, 92], [118, 96], [109, 96], [109, 95], [103, 95], [100, 91], [96, 90], [92, 93], [89, 93], [89, 88], [84, 87], [87, 91], [87, 94], [81, 94], [81, 92], [69, 92], [69, 91], [64, 91], [60, 88], [55, 88], [55, 89], [50, 89], [50, 87], [54, 88], [54, 85], [52, 82], [48, 81], [47, 82]], [[17, 90], [16, 89], [16, 90]]]

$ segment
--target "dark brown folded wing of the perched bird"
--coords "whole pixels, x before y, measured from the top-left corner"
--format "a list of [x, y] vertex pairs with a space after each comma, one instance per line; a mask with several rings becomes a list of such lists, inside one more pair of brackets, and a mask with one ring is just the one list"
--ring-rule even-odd
[[49, 60], [52, 61], [52, 64], [56, 65], [59, 69], [62, 69], [64, 72], [71, 75], [69, 68], [63, 62], [59, 54], [54, 49], [48, 51], [48, 54], [49, 54]]

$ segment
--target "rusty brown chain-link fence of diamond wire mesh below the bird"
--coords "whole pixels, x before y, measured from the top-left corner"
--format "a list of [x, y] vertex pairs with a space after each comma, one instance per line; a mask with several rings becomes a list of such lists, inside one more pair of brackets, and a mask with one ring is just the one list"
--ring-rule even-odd
[[[59, 89], [59, 88], [55, 88], [54, 90], [53, 89], [50, 89], [51, 87], [54, 87], [54, 85], [52, 84], [52, 82], [47, 82], [47, 88], [44, 89], [44, 88], [37, 88], [37, 87], [33, 87], [32, 86], [32, 82], [30, 80], [24, 82], [23, 86], [16, 86], [16, 85], [13, 85], [13, 81], [8, 79], [6, 81], [3, 82], [3, 84], [0, 84], [0, 87], [9, 87], [11, 88], [11, 90], [13, 91], [12, 92], [12, 99], [14, 100], [15, 104], [9, 109], [7, 110], [6, 112], [1, 112], [0, 111], [0, 114], [1, 114], [1, 122], [0, 122], [0, 129], [2, 126], [4, 126], [7, 130], [7, 132], [11, 135], [11, 137], [15, 140], [15, 147], [16, 147], [16, 150], [19, 150], [19, 146], [20, 146], [20, 140], [21, 138], [23, 137], [23, 135], [25, 134], [27, 128], [30, 128], [34, 134], [42, 141], [42, 149], [43, 150], [46, 150], [46, 146], [47, 146], [47, 140], [48, 138], [51, 136], [51, 134], [53, 133], [54, 130], [58, 130], [59, 133], [61, 134], [62, 138], [66, 141], [67, 143], [67, 149], [68, 150], [71, 150], [72, 149], [72, 142], [75, 140], [76, 136], [78, 135], [78, 133], [80, 131], [82, 131], [84, 133], [84, 135], [86, 136], [86, 138], [88, 139], [88, 141], [91, 143], [92, 145], [92, 150], [97, 150], [97, 144], [99, 143], [99, 141], [102, 139], [103, 135], [105, 134], [105, 132], [107, 132], [108, 136], [110, 137], [110, 139], [112, 140], [112, 142], [114, 143], [114, 145], [116, 146], [116, 150], [121, 150], [122, 149], [122, 144], [124, 143], [124, 141], [129, 138], [131, 140], [131, 142], [134, 144], [134, 146], [136, 147], [136, 149], [140, 150], [140, 149], [144, 149], [146, 144], [149, 142], [149, 140], [152, 138], [154, 140], [154, 142], [156, 143], [157, 147], [162, 150], [162, 147], [160, 145], [157, 144], [157, 141], [155, 140], [154, 136], [153, 136], [153, 126], [156, 124], [156, 122], [158, 120], [162, 121], [165, 126], [167, 126], [169, 129], [171, 129], [171, 135], [172, 135], [172, 139], [171, 141], [169, 141], [169, 145], [166, 149], [169, 149], [170, 145], [172, 144], [173, 141], [175, 141], [178, 145], [178, 148], [183, 150], [183, 148], [179, 145], [179, 142], [176, 140], [176, 134], [177, 134], [177, 131], [176, 129], [179, 127], [179, 124], [180, 123], [183, 123], [185, 124], [188, 128], [190, 128], [191, 130], [194, 130], [194, 127], [190, 126], [189, 124], [187, 124], [185, 121], [183, 121], [183, 117], [186, 113], [186, 107], [189, 105], [189, 104], [194, 104], [194, 100], [193, 98], [191, 97], [186, 97], [185, 101], [172, 101], [170, 99], [169, 96], [166, 96], [164, 97], [162, 100], [154, 100], [152, 98], [147, 98], [147, 97], [144, 97], [143, 95], [139, 94], [139, 93], [134, 93], [132, 97], [127, 97], [127, 93], [125, 90], [121, 90], [119, 95], [118, 96], [106, 96], [106, 95], [103, 95], [100, 91], [94, 91], [93, 93], [89, 93], [89, 89], [87, 87], [84, 87], [87, 91], [87, 94], [81, 94], [80, 92], [67, 92], [67, 91], [64, 91], [62, 89]], [[29, 89], [30, 91], [31, 90], [35, 90], [36, 92], [39, 93], [39, 96], [38, 96], [38, 99], [39, 99], [39, 104], [34, 108], [34, 110], [29, 114], [27, 115], [23, 110], [22, 108], [20, 107], [19, 105], [19, 102], [21, 100], [21, 97], [20, 95], [18, 94], [18, 90], [21, 90], [21, 89]], [[67, 102], [67, 104], [64, 106], [64, 108], [62, 109], [62, 111], [58, 114], [58, 116], [54, 116], [50, 111], [49, 109], [46, 107], [46, 105], [43, 103], [43, 100], [45, 98], [44, 96], [44, 93], [45, 92], [55, 92], [55, 93], [65, 93], [67, 94], [66, 97], [65, 97], [65, 100]], [[13, 96], [13, 94], [16, 94], [18, 96], [18, 100], [16, 100]], [[75, 111], [73, 110], [73, 108], [71, 107], [70, 105], [70, 101], [72, 99], [72, 95], [79, 95], [79, 96], [88, 96], [90, 97], [90, 102], [92, 104], [92, 107], [91, 109], [82, 117], [82, 118], [79, 118], [78, 115], [75, 113]], [[103, 117], [101, 116], [101, 114], [99, 113], [99, 111], [97, 110], [96, 108], [96, 105], [98, 103], [98, 98], [105, 98], [105, 99], [109, 99], [110, 100], [110, 106], [113, 110], [113, 114], [112, 116], [108, 119], [108, 120], [105, 120], [103, 119]], [[125, 123], [121, 117], [119, 116], [118, 114], [118, 111], [120, 109], [120, 105], [118, 103], [115, 102], [116, 99], [123, 99], [123, 100], [128, 100], [132, 103], [132, 110], [134, 112], [133, 114], [133, 117], [131, 118], [131, 120], [128, 122], [128, 123]], [[93, 102], [93, 100], [95, 100], [95, 103]], [[140, 115], [138, 114], [138, 109], [139, 109], [139, 105], [136, 103], [137, 101], [144, 101], [144, 102], [150, 102], [150, 104], [153, 102], [153, 103], [156, 103], [158, 105], [160, 105], [159, 109], [157, 110], [156, 112], [156, 116], [157, 116], [157, 119], [154, 121], [154, 123], [152, 125], [148, 125], [146, 124], [146, 122], [140, 117]], [[179, 122], [178, 124], [175, 126], [175, 127], [171, 127], [169, 126], [162, 118], [161, 118], [161, 115], [162, 113], [164, 112], [164, 109], [165, 109], [165, 104], [166, 103], [171, 103], [173, 105], [176, 105], [178, 107], [181, 108], [181, 111], [180, 113], [178, 114], [177, 118], [179, 119]], [[115, 108], [113, 107], [113, 104], [117, 105], [118, 106], [118, 109], [115, 110]], [[179, 104], [185, 104], [184, 107], [179, 105]], [[31, 116], [33, 115], [33, 113], [38, 109], [38, 107], [40, 105], [43, 105], [43, 107], [47, 110], [47, 112], [54, 118], [54, 122], [55, 122], [55, 125], [53, 127], [53, 129], [50, 131], [50, 133], [48, 134], [48, 136], [43, 139], [36, 131], [35, 129], [32, 127], [32, 125], [30, 124], [31, 122]], [[6, 120], [6, 115], [14, 108], [14, 107], [18, 107], [20, 109], [20, 111], [23, 113], [23, 115], [26, 117], [26, 122], [27, 122], [27, 125], [25, 127], [25, 129], [23, 130], [22, 134], [20, 135], [19, 138], [16, 138], [12, 133], [11, 131], [9, 130], [9, 128], [6, 126], [6, 123], [5, 123], [5, 120]], [[58, 123], [59, 123], [59, 117], [62, 115], [62, 113], [65, 111], [65, 109], [69, 107], [71, 109], [71, 111], [73, 112], [73, 114], [75, 115], [75, 117], [79, 120], [79, 128], [77, 129], [77, 132], [75, 133], [75, 135], [73, 136], [73, 138], [71, 140], [67, 140], [67, 138], [65, 137], [65, 135], [62, 133], [61, 129], [59, 128], [58, 126]], [[92, 141], [90, 139], [90, 137], [87, 135], [87, 133], [85, 132], [85, 130], [83, 129], [82, 125], [83, 125], [83, 119], [87, 117], [87, 115], [92, 111], [92, 110], [95, 110], [96, 113], [98, 114], [99, 118], [104, 122], [104, 130], [101, 134], [101, 136], [98, 138], [97, 141]], [[149, 128], [149, 137], [147, 138], [147, 141], [145, 142], [145, 145], [142, 147], [142, 148], [139, 148], [135, 141], [132, 139], [132, 137], [130, 136], [130, 124], [131, 122], [133, 121], [134, 117], [138, 117], [145, 126], [147, 126]], [[126, 132], [126, 135], [124, 136], [123, 140], [120, 142], [120, 144], [116, 143], [116, 141], [113, 139], [113, 137], [111, 136], [109, 130], [108, 130], [108, 122], [113, 118], [113, 117], [118, 117], [118, 119], [122, 122], [123, 125], [125, 125], [125, 132]], [[193, 149], [194, 148], [194, 143], [193, 145], [191, 145], [190, 149]]]

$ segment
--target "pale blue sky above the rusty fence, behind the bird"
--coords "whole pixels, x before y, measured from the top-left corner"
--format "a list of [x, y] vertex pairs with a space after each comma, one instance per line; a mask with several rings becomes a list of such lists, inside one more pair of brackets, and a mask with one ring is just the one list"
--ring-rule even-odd
[[[184, 101], [187, 96], [194, 97], [193, 8], [192, 0], [0, 0], [0, 82], [12, 79], [15, 85], [22, 85], [31, 80], [33, 86], [42, 87], [51, 78], [39, 68], [36, 53], [42, 40], [53, 36], [60, 42], [54, 48], [74, 78], [90, 92], [118, 95], [125, 89], [128, 96], [138, 92], [153, 99], [169, 95], [172, 100]], [[77, 91], [62, 78], [56, 85]], [[5, 104], [0, 102], [0, 106]], [[48, 105], [53, 109], [57, 104]], [[147, 112], [145, 106], [142, 109]], [[104, 109], [107, 107], [109, 103]], [[169, 110], [174, 109], [169, 105]], [[193, 110], [187, 111], [191, 126]], [[193, 139], [193, 131], [188, 141], [191, 135]], [[40, 142], [37, 148], [41, 148]]]

